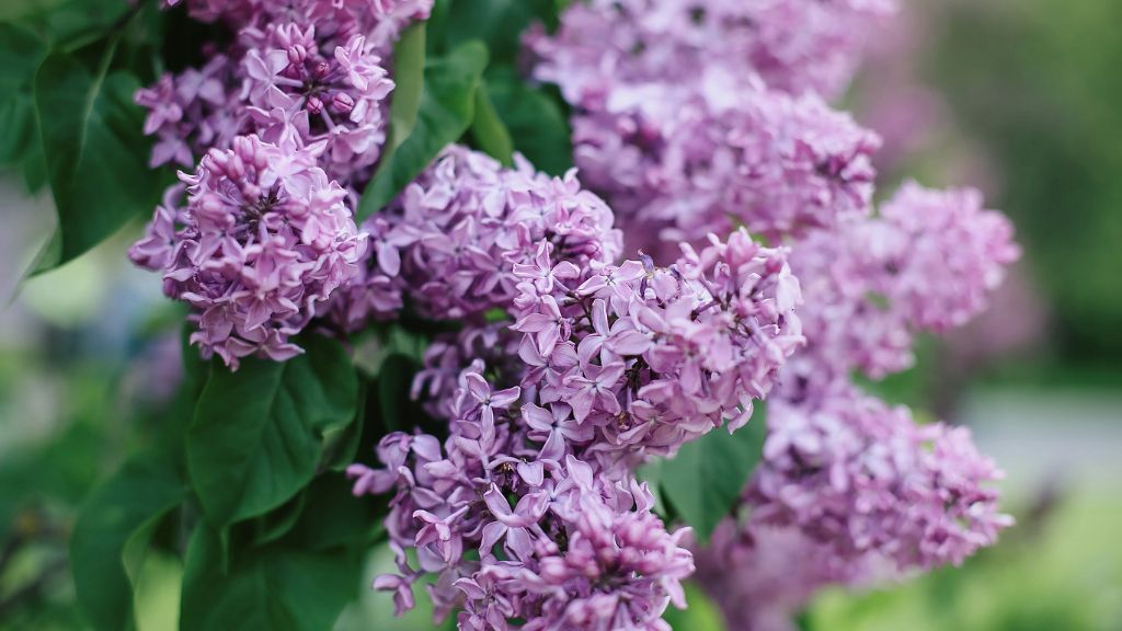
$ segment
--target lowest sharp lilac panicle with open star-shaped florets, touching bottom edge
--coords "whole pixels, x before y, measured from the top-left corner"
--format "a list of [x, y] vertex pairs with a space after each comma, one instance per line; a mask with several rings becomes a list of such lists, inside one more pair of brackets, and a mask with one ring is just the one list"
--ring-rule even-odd
[[680, 582], [693, 571], [688, 529], [665, 530], [645, 484], [543, 441], [564, 430], [527, 422], [519, 388], [493, 391], [471, 369], [460, 384], [443, 445], [392, 433], [378, 446], [385, 468], [348, 472], [356, 493], [395, 492], [385, 523], [398, 574], [375, 587], [402, 613], [417, 579], [436, 574], [435, 614], [460, 607], [463, 630], [669, 631], [662, 613], [684, 606]]

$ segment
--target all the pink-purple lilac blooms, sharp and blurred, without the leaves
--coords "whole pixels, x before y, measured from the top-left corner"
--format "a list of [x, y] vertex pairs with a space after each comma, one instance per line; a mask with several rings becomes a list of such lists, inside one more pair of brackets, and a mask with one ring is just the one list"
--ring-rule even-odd
[[[451, 146], [361, 227], [390, 44], [432, 1], [185, 3], [236, 36], [137, 94], [153, 162], [200, 162], [130, 256], [192, 307], [192, 341], [236, 368], [300, 353], [313, 319], [460, 326], [413, 384], [447, 438], [390, 433], [380, 467], [348, 472], [393, 493], [398, 571], [375, 586], [398, 612], [435, 575], [460, 629], [661, 631], [697, 559], [733, 625], [761, 629], [881, 563], [960, 563], [1009, 523], [968, 432], [852, 384], [977, 313], [1018, 255], [971, 191], [908, 184], [873, 210], [879, 139], [825, 99], [892, 0], [573, 3], [527, 44], [573, 106], [590, 190]], [[659, 256], [620, 262], [620, 227]], [[699, 549], [634, 470], [766, 396], [749, 516]]]

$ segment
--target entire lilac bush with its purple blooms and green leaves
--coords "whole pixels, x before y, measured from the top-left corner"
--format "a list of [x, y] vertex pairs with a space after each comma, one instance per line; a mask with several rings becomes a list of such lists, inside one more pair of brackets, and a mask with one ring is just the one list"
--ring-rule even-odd
[[973, 190], [879, 194], [831, 104], [894, 2], [478, 1], [130, 3], [100, 63], [45, 62], [131, 94], [91, 98], [151, 140], [118, 163], [182, 168], [129, 257], [185, 305], [190, 409], [79, 528], [94, 625], [169, 515], [184, 629], [330, 628], [380, 543], [398, 614], [524, 631], [668, 630], [687, 580], [785, 629], [993, 545], [969, 431], [862, 385], [1019, 256]]

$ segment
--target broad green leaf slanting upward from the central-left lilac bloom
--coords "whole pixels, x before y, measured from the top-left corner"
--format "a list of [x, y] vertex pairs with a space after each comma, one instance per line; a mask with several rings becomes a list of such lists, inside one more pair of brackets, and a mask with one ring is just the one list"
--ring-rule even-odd
[[[475, 94], [486, 65], [487, 48], [478, 42], [468, 42], [447, 57], [425, 64], [416, 124], [395, 150], [381, 157], [359, 203], [360, 221], [381, 210], [445, 146], [467, 131], [475, 117]], [[390, 116], [393, 109], [390, 106]]]

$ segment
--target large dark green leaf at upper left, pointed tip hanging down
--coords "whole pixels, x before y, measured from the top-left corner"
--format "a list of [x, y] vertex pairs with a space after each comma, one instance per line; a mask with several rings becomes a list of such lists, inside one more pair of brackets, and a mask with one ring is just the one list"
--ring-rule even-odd
[[95, 73], [52, 53], [35, 79], [47, 180], [58, 209], [59, 265], [85, 253], [129, 219], [151, 212], [165, 177], [148, 170], [144, 115], [135, 76], [109, 73], [110, 43]]

